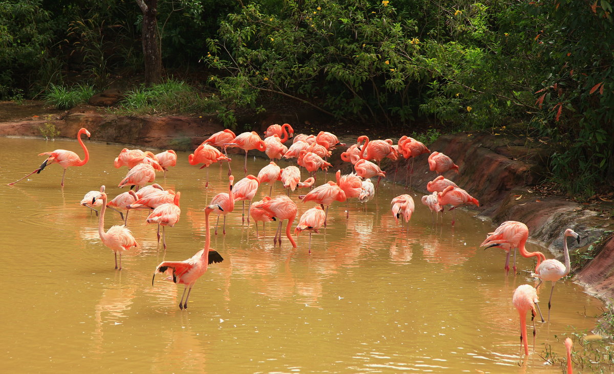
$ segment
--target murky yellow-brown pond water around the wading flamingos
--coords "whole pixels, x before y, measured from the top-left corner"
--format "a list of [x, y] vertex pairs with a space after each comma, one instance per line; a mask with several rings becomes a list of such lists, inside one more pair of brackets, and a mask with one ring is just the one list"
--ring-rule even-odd
[[[162, 260], [184, 260], [203, 247], [202, 209], [227, 189], [226, 166], [211, 166], [208, 189], [205, 171], [188, 165], [187, 153], [166, 179], [158, 174], [157, 182], [182, 192], [181, 220], [166, 230], [165, 252], [146, 212], [131, 212], [128, 226], [141, 247], [117, 271], [96, 216], [79, 201], [102, 184], [110, 198], [123, 192], [115, 186], [126, 168], [112, 165], [123, 146], [86, 143], [91, 160], [68, 169], [63, 190], [57, 165], [9, 187], [41, 164], [41, 152], [82, 151], [75, 141], [0, 138], [0, 362], [7, 371], [559, 373], [539, 357], [544, 345], [562, 353], [554, 335], [596, 324], [601, 303], [559, 282], [552, 321], [538, 324], [535, 351], [521, 361], [511, 295], [531, 282], [525, 270], [532, 262], [519, 260], [523, 271], [506, 277], [504, 252], [478, 249], [492, 224], [459, 211], [456, 227], [451, 214], [433, 226], [421, 194], [409, 229], [395, 225], [389, 202], [406, 190], [391, 184], [366, 208], [352, 201], [348, 220], [346, 205], [335, 203], [311, 254], [305, 234], [298, 249], [285, 237], [274, 247], [273, 224], [257, 238], [253, 224], [241, 225], [238, 203], [227, 235], [212, 238], [225, 261], [209, 267], [181, 311], [183, 287], [163, 276], [152, 286], [152, 273]], [[249, 173], [266, 163], [249, 158]], [[243, 177], [242, 157], [234, 157], [233, 174]], [[265, 184], [258, 195], [267, 192]], [[313, 206], [297, 205], [299, 215]], [[119, 215], [107, 210], [106, 228], [112, 224]], [[549, 292], [550, 284], [540, 287], [546, 313]]]

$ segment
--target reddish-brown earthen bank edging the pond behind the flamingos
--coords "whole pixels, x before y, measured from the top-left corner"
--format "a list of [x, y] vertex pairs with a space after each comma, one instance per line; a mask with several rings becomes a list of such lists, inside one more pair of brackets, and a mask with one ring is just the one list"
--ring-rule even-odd
[[[0, 118], [1, 136], [42, 136], [39, 128], [45, 123], [53, 123], [60, 136], [66, 138], [74, 138], [79, 128], [85, 127], [95, 141], [193, 150], [210, 134], [223, 130], [213, 116], [126, 117], [87, 108], [63, 112], [41, 107], [35, 111], [38, 114], [17, 110], [15, 107], [13, 117], [8, 112], [10, 119], [0, 110], [4, 117]], [[271, 124], [265, 122], [256, 121], [254, 130], [260, 132]], [[333, 128], [314, 129], [316, 133], [319, 130], [335, 132]], [[347, 135], [342, 137], [348, 146], [356, 141]], [[386, 138], [385, 134], [381, 138]], [[562, 233], [567, 227], [580, 233], [580, 247], [584, 248], [602, 238], [607, 230], [614, 229], [610, 214], [603, 212], [611, 210], [611, 205], [582, 205], [535, 190], [534, 186], [543, 180], [549, 152], [540, 143], [510, 136], [459, 133], [442, 136], [430, 144], [429, 149], [449, 155], [459, 165], [459, 174], [448, 172], [445, 176], [480, 200], [480, 207], [472, 208], [476, 216], [490, 219], [494, 224], [504, 220], [525, 222], [530, 230], [530, 240], [548, 247], [555, 257], [562, 255]], [[233, 152], [243, 151], [236, 149]], [[331, 162], [335, 169], [349, 171], [349, 166], [341, 163], [340, 153], [341, 150], [336, 150]], [[258, 154], [254, 152], [254, 155]], [[417, 195], [414, 200], [417, 199], [418, 204], [421, 194], [426, 193], [427, 182], [436, 176], [429, 171], [427, 158], [427, 154], [417, 157], [411, 174]], [[408, 173], [404, 160], [398, 169], [392, 160], [384, 160], [382, 168], [386, 170], [389, 181], [404, 182]], [[609, 302], [614, 298], [614, 240], [603, 240], [600, 248], [596, 258], [575, 273], [575, 281], [591, 294]], [[570, 251], [575, 249], [572, 244]]]

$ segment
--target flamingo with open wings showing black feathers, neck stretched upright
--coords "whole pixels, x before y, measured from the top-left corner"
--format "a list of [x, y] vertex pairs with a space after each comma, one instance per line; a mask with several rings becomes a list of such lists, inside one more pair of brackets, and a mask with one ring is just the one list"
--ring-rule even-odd
[[[200, 278], [207, 271], [209, 264], [222, 262], [224, 260], [217, 251], [210, 247], [211, 233], [209, 233], [209, 215], [212, 211], [214, 211], [214, 209], [222, 208], [219, 206], [212, 205], [209, 205], [207, 208], [204, 208], [206, 230], [204, 248], [196, 252], [195, 255], [193, 255], [187, 260], [176, 262], [163, 261], [157, 267], [155, 267], [155, 271], [153, 272], [152, 286], [153, 279], [155, 279], [155, 275], [164, 273], [168, 275], [167, 279], [173, 279], [173, 282], [184, 285], [184, 293], [181, 295], [181, 301], [179, 302], [179, 309], [181, 310], [188, 308], [188, 298], [190, 298], [190, 292], [192, 291], [192, 287], [194, 286], [198, 278]], [[186, 289], [188, 290], [188, 295], [185, 298], [184, 303], [184, 295]]]

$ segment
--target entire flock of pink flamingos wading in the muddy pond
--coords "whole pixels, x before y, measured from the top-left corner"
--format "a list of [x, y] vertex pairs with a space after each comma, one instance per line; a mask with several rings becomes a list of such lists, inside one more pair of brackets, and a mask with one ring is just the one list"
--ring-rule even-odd
[[[64, 168], [62, 174], [61, 186], [64, 186], [64, 176], [66, 168], [69, 166], [83, 166], [89, 160], [89, 152], [83, 140], [82, 134], [90, 137], [90, 132], [85, 128], [81, 128], [77, 133], [79, 144], [85, 152], [83, 160], [70, 150], [56, 149], [53, 152], [44, 152], [40, 155], [47, 155], [47, 159], [42, 165], [27, 176], [15, 181], [9, 185], [13, 185], [22, 179], [34, 174], [41, 173], [47, 166], [57, 163]], [[287, 147], [284, 145], [290, 138], [293, 139], [292, 145]], [[408, 136], [402, 136], [394, 144], [391, 139], [386, 140], [369, 140], [367, 136], [360, 136], [356, 144], [352, 144], [345, 152], [341, 154], [341, 159], [345, 162], [352, 163], [354, 173], [341, 175], [340, 171], [336, 173], [336, 182], [328, 181], [318, 187], [313, 187], [316, 183], [316, 171], [318, 169], [327, 169], [332, 166], [327, 162], [328, 156], [332, 154], [337, 146], [345, 146], [341, 144], [338, 138], [326, 131], [321, 131], [316, 135], [298, 134], [293, 136], [293, 129], [288, 123], [284, 125], [271, 125], [265, 131], [265, 139], [252, 132], [241, 133], [238, 136], [231, 130], [223, 130], [212, 134], [206, 139], [203, 144], [198, 146], [193, 154], [188, 157], [190, 165], [199, 165], [202, 168], [207, 168], [212, 163], [228, 162], [228, 192], [218, 193], [209, 205], [204, 208], [206, 213], [206, 240], [204, 248], [196, 252], [190, 259], [183, 261], [165, 261], [160, 263], [154, 272], [155, 274], [166, 274], [169, 280], [175, 283], [184, 284], [184, 293], [182, 294], [179, 308], [182, 310], [187, 308], [190, 291], [195, 282], [202, 276], [211, 263], [222, 262], [222, 256], [210, 247], [211, 233], [209, 228], [209, 216], [211, 213], [217, 214], [217, 224], [215, 234], [217, 235], [217, 226], [219, 224], [219, 216], [224, 217], [223, 233], [225, 234], [225, 218], [227, 214], [233, 212], [236, 201], [249, 201], [247, 224], [249, 225], [250, 217], [256, 224], [256, 232], [258, 230], [258, 222], [271, 222], [272, 220], [279, 221], [277, 232], [273, 237], [273, 243], [279, 243], [281, 246], [282, 222], [287, 220], [286, 236], [293, 247], [297, 247], [295, 243], [291, 227], [295, 217], [297, 216], [297, 205], [288, 195], [278, 195], [271, 197], [271, 191], [275, 181], [281, 181], [284, 188], [294, 191], [297, 188], [308, 188], [309, 192], [305, 195], [299, 195], [299, 199], [303, 202], [313, 201], [316, 203], [314, 208], [305, 211], [298, 224], [295, 227], [294, 233], [298, 235], [303, 231], [309, 232], [309, 252], [311, 253], [311, 232], [317, 233], [321, 227], [326, 227], [328, 207], [333, 201], [343, 202], [349, 198], [357, 198], [361, 203], [366, 203], [375, 195], [376, 186], [373, 185], [370, 178], [385, 176], [386, 173], [379, 168], [379, 163], [384, 158], [392, 160], [407, 160], [407, 167], [413, 167], [414, 157], [430, 153], [430, 150], [421, 142]], [[217, 149], [216, 147], [219, 147]], [[231, 175], [230, 158], [225, 151], [228, 147], [239, 147], [245, 151], [245, 166], [244, 174], [247, 174], [247, 152], [252, 149], [257, 149], [271, 159], [271, 163], [260, 170], [258, 176], [251, 174], [246, 175], [243, 179], [234, 184], [234, 177]], [[221, 150], [221, 151], [220, 151]], [[222, 153], [222, 151], [224, 153]], [[297, 166], [287, 166], [280, 168], [273, 160], [280, 158], [297, 158], [299, 166], [305, 168], [311, 176], [305, 181], [301, 181], [301, 171]], [[371, 162], [375, 161], [375, 163]], [[148, 224], [158, 225], [158, 242], [160, 236], [163, 238], [163, 246], [166, 249], [165, 227], [173, 227], [178, 221], [181, 214], [179, 209], [179, 198], [181, 192], [173, 190], [164, 190], [158, 184], [147, 185], [155, 180], [157, 171], [166, 171], [169, 167], [175, 166], [177, 162], [177, 154], [173, 150], [166, 150], [160, 154], [154, 155], [152, 152], [143, 152], [139, 149], [123, 149], [119, 156], [115, 158], [115, 168], [122, 166], [128, 167], [126, 177], [119, 183], [119, 187], [130, 186], [128, 192], [121, 193], [112, 200], [107, 199], [104, 192], [104, 185], [99, 191], [88, 192], [81, 204], [96, 210], [95, 206], [100, 206], [98, 232], [100, 239], [104, 245], [111, 248], [115, 254], [115, 269], [122, 269], [122, 252], [128, 251], [131, 247], [138, 246], [134, 236], [126, 228], [126, 225], [114, 225], [107, 232], [104, 232], [104, 214], [106, 208], [110, 209], [126, 209], [125, 223], [128, 219], [128, 211], [130, 209], [149, 209], [151, 213], [147, 217]], [[433, 214], [443, 212], [443, 207], [451, 205], [450, 209], [457, 206], [473, 204], [479, 206], [478, 200], [469, 195], [465, 190], [458, 187], [453, 181], [445, 179], [441, 176], [449, 170], [454, 170], [458, 173], [459, 167], [454, 165], [453, 160], [440, 152], [432, 152], [429, 156], [429, 168], [431, 171], [437, 172], [438, 176], [433, 181], [427, 184], [427, 190], [431, 193], [422, 197], [422, 203], [429, 207]], [[408, 173], [411, 174], [411, 173]], [[208, 185], [207, 175], [207, 185]], [[257, 192], [260, 184], [268, 182], [271, 187], [269, 196], [266, 196], [261, 201], [252, 203], [252, 199]], [[405, 181], [407, 182], [407, 181]], [[410, 179], [411, 184], [411, 179]], [[136, 187], [133, 190], [133, 187]], [[415, 206], [411, 195], [403, 194], [395, 197], [391, 201], [391, 212], [398, 224], [398, 219], [402, 218], [405, 222], [409, 222], [411, 214]], [[122, 212], [117, 210], [120, 216]], [[96, 211], [98, 214], [98, 211]], [[349, 212], [348, 212], [349, 214]], [[243, 214], [244, 220], [245, 215]], [[443, 219], [443, 217], [442, 217]], [[452, 220], [454, 225], [454, 218]], [[160, 235], [160, 226], [162, 227], [162, 235]], [[524, 257], [536, 257], [537, 266], [535, 267], [534, 276], [540, 281], [551, 281], [552, 288], [550, 292], [550, 300], [548, 300], [548, 319], [550, 319], [551, 300], [556, 281], [566, 276], [570, 270], [569, 251], [567, 249], [567, 237], [571, 236], [580, 243], [580, 236], [573, 230], [568, 228], [564, 233], [564, 257], [565, 263], [558, 260], [548, 259], [542, 252], [528, 252], [525, 248], [525, 243], [529, 236], [529, 229], [522, 222], [506, 221], [503, 222], [493, 233], [489, 233], [488, 238], [484, 240], [481, 246], [485, 247], [500, 247], [507, 252], [505, 260], [505, 271], [509, 271], [511, 249], [514, 249], [513, 270], [516, 271], [516, 250]], [[119, 253], [119, 265], [117, 254]], [[153, 284], [153, 279], [152, 279]], [[187, 290], [187, 295], [185, 291]], [[184, 302], [185, 296], [185, 302]], [[516, 288], [513, 294], [513, 305], [519, 313], [521, 325], [521, 345], [524, 344], [524, 354], [529, 354], [527, 345], [527, 327], [526, 314], [531, 311], [532, 320], [536, 316], [536, 307], [540, 316], [536, 287], [529, 284], [523, 284]], [[544, 322], [543, 317], [542, 322]], [[533, 326], [533, 334], [535, 340], [535, 322]], [[570, 351], [572, 341], [567, 338], [565, 347], [567, 348], [567, 372], [572, 373]]]

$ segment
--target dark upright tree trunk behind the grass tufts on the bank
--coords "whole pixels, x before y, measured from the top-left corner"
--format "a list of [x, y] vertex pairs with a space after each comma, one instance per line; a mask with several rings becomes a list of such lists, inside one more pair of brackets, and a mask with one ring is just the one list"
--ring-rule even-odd
[[142, 45], [145, 60], [145, 83], [160, 83], [162, 79], [162, 53], [158, 41], [158, 0], [136, 0], [143, 14]]

